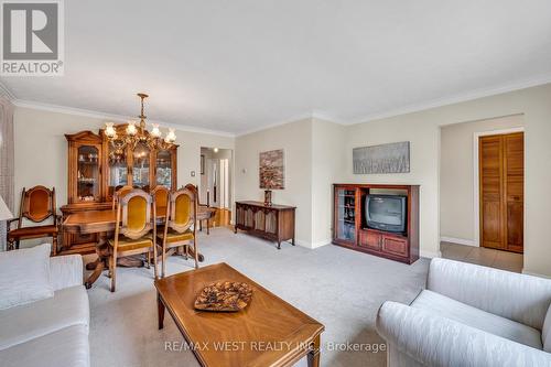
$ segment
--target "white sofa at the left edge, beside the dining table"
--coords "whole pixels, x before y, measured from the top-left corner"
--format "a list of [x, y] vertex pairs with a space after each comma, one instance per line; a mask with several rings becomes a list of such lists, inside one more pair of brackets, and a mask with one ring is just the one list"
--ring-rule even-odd
[[0, 366], [89, 366], [82, 257], [51, 258], [50, 274], [54, 296], [0, 310]]

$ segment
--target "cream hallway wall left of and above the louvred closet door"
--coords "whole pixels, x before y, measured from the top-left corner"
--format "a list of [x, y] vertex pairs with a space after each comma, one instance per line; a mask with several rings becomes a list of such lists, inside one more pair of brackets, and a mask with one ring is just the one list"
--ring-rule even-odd
[[460, 244], [475, 245], [476, 132], [523, 127], [523, 116], [444, 126], [441, 129], [440, 235]]

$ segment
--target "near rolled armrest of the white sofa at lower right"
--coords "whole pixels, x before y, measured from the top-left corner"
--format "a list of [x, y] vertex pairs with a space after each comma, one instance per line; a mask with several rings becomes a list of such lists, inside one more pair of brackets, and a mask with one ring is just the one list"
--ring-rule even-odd
[[551, 366], [551, 354], [408, 305], [385, 302], [377, 332], [426, 366]]

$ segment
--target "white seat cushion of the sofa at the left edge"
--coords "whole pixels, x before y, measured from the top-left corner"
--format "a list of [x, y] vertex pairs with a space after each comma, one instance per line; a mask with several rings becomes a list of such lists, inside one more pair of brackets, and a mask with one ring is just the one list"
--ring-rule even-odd
[[88, 294], [83, 285], [55, 291], [54, 296], [0, 311], [0, 350], [64, 327], [88, 330]]

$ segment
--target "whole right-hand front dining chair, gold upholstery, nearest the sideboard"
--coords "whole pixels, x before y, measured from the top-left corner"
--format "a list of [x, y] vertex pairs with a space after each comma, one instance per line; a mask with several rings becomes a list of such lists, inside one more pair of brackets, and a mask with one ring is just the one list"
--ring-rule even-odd
[[166, 269], [168, 250], [184, 246], [185, 256], [190, 253], [191, 241], [193, 241], [193, 257], [195, 269], [198, 269], [197, 250], [197, 195], [188, 188], [180, 188], [171, 193], [166, 206], [164, 231], [158, 233], [156, 237], [162, 242], [162, 268], [161, 277], [164, 278]]

